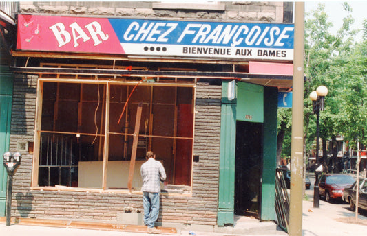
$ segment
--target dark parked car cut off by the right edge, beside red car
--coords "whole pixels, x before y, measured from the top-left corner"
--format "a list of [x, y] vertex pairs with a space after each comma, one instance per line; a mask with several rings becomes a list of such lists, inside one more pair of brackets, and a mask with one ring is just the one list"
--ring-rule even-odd
[[[345, 202], [349, 202], [350, 209], [355, 211], [355, 202], [357, 192], [357, 181], [353, 183], [352, 186], [345, 188], [343, 192], [343, 200]], [[367, 178], [359, 179], [359, 200], [358, 207], [361, 209], [365, 209], [367, 211]]]

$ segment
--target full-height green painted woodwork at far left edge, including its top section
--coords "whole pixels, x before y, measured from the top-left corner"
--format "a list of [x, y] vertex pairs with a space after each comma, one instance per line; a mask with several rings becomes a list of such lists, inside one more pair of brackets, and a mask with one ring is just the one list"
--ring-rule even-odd
[[[10, 121], [12, 114], [13, 75], [8, 67], [0, 66], [0, 156], [1, 163], [4, 152], [9, 150]], [[6, 187], [8, 174], [5, 167], [0, 165], [0, 217], [5, 216]]]

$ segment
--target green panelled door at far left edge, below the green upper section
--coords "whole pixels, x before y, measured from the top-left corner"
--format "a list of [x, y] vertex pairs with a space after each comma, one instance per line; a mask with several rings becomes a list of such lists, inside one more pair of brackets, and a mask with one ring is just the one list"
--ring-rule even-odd
[[10, 140], [10, 115], [12, 111], [12, 97], [0, 95], [0, 217], [5, 216], [6, 182], [8, 174], [3, 166], [3, 153], [8, 151]]

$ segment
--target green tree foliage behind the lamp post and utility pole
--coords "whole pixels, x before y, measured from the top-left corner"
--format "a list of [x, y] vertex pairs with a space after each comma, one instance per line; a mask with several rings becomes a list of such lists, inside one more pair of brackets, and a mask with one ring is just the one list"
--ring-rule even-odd
[[[364, 20], [364, 40], [355, 43], [356, 30], [352, 30], [352, 8], [341, 6], [347, 16], [336, 34], [331, 33], [333, 23], [328, 20], [324, 5], [305, 21], [305, 69], [304, 83], [304, 151], [312, 149], [316, 136], [316, 117], [312, 113], [311, 91], [320, 85], [328, 88], [325, 110], [320, 113], [320, 137], [333, 140], [342, 134], [355, 148], [357, 141], [366, 145], [366, 97], [367, 97], [367, 20]], [[288, 116], [291, 116], [290, 113]], [[281, 112], [279, 124], [288, 122], [284, 134], [282, 156], [290, 155], [291, 121]], [[280, 130], [281, 126], [278, 126]], [[325, 143], [325, 142], [323, 142]], [[288, 148], [289, 147], [289, 148]], [[325, 153], [326, 154], [326, 153]]]

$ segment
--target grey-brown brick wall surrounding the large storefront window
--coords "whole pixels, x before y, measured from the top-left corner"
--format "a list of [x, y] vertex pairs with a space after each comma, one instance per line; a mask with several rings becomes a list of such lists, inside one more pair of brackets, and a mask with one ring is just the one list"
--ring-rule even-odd
[[[10, 151], [18, 141], [34, 139], [36, 109], [34, 75], [16, 75], [12, 106]], [[191, 196], [161, 195], [158, 222], [216, 225], [220, 151], [221, 86], [199, 82], [196, 88], [196, 123]], [[23, 152], [14, 175], [12, 216], [116, 222], [123, 209], [143, 212], [141, 194], [30, 189], [32, 154]]]

